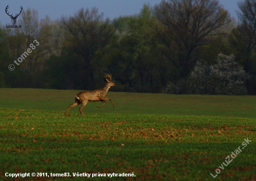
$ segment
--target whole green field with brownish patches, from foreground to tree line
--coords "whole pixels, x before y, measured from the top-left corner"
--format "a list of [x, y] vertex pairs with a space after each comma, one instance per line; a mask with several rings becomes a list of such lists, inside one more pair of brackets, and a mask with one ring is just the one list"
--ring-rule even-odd
[[[0, 89], [0, 180], [256, 178], [255, 96], [109, 92], [115, 109], [110, 102], [102, 108], [96, 108], [101, 102], [88, 103], [85, 118], [79, 106], [64, 116], [78, 92]], [[238, 147], [242, 151], [227, 165], [226, 157]], [[221, 173], [214, 179], [210, 173], [216, 175], [217, 168]], [[33, 172], [70, 177], [5, 176]], [[91, 176], [73, 176], [78, 172]], [[99, 172], [106, 176], [92, 178]], [[110, 178], [110, 173], [135, 176]]]

